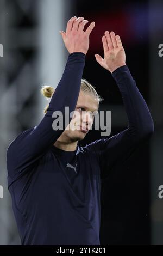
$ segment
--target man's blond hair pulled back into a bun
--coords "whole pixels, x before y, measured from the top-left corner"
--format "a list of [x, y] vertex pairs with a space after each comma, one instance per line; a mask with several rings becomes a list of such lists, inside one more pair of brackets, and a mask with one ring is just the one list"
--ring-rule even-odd
[[[84, 92], [85, 94], [91, 94], [93, 97], [96, 97], [98, 104], [103, 100], [102, 97], [99, 96], [98, 93], [96, 92], [95, 87], [92, 86], [92, 84], [90, 84], [86, 79], [82, 78], [80, 90], [82, 90], [82, 92]], [[41, 94], [45, 96], [48, 101], [49, 101], [49, 98], [53, 96], [54, 91], [55, 91], [55, 88], [53, 88], [52, 86], [42, 86], [41, 88]], [[49, 103], [43, 109], [43, 112], [45, 114], [47, 112], [48, 107], [49, 107]]]

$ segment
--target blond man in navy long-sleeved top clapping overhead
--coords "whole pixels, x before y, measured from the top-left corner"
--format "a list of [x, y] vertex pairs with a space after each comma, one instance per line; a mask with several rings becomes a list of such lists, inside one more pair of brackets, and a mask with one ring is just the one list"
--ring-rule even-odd
[[[90, 84], [81, 87], [89, 36], [83, 17], [72, 17], [62, 39], [70, 53], [57, 88], [42, 88], [52, 96], [40, 124], [23, 131], [7, 151], [8, 185], [22, 245], [99, 245], [101, 178], [154, 131], [145, 100], [126, 66], [120, 36], [102, 37], [104, 58], [123, 98], [128, 128], [115, 136], [79, 147], [98, 111], [99, 96]], [[106, 82], [107, 86], [107, 82]], [[85, 87], [85, 88], [86, 88]], [[53, 114], [76, 113], [65, 130], [53, 129]], [[73, 125], [71, 125], [73, 123]], [[74, 127], [76, 127], [74, 129]], [[77, 129], [78, 127], [78, 129]]]

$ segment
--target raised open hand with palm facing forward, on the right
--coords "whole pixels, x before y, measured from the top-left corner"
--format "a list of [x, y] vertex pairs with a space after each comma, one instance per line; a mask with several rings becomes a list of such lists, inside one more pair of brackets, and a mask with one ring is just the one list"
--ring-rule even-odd
[[126, 54], [119, 35], [115, 35], [114, 32], [109, 33], [105, 31], [102, 42], [104, 59], [99, 54], [95, 54], [99, 65], [109, 70], [111, 73], [117, 68], [120, 68], [120, 66], [126, 65]]

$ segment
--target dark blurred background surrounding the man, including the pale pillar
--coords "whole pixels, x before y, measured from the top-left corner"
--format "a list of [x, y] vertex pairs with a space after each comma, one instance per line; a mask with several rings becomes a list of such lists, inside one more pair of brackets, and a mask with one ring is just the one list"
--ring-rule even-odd
[[[101, 244], [163, 245], [163, 199], [158, 197], [158, 187], [163, 185], [163, 58], [158, 54], [159, 44], [163, 44], [161, 0], [1, 0], [0, 185], [4, 198], [0, 199], [0, 245], [20, 244], [7, 188], [6, 150], [18, 133], [43, 117], [47, 102], [40, 88], [59, 83], [68, 56], [59, 31], [65, 31], [72, 16], [96, 23], [83, 77], [103, 97], [99, 109], [111, 111], [110, 136], [126, 129], [128, 120], [114, 79], [95, 59], [95, 53], [103, 56], [106, 30], [121, 36], [126, 63], [155, 124], [152, 139], [121, 166], [108, 170], [102, 181]], [[79, 144], [100, 138], [100, 131], [90, 131]]]

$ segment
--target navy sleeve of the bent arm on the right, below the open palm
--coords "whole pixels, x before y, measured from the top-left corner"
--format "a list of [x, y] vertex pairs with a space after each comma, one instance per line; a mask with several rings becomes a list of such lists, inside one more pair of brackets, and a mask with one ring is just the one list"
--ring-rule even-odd
[[99, 139], [86, 145], [86, 150], [97, 155], [102, 169], [111, 168], [115, 163], [127, 160], [136, 146], [143, 139], [150, 137], [154, 131], [154, 123], [147, 104], [136, 87], [128, 67], [125, 65], [116, 69], [112, 76], [122, 95], [128, 128], [110, 138]]

